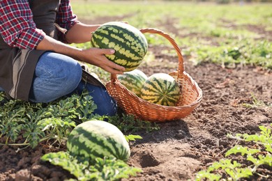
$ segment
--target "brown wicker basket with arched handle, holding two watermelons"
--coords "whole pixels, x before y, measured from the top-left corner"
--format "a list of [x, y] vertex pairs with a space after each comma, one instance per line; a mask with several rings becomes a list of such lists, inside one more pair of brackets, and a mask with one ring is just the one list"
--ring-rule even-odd
[[167, 107], [142, 100], [123, 86], [117, 79], [116, 74], [111, 74], [111, 80], [106, 84], [107, 91], [114, 97], [118, 106], [123, 111], [127, 114], [133, 114], [136, 118], [151, 122], [165, 122], [185, 118], [201, 102], [202, 90], [192, 77], [185, 72], [181, 49], [179, 49], [174, 39], [163, 31], [158, 29], [141, 29], [140, 31], [142, 33], [156, 33], [163, 36], [176, 49], [176, 54], [179, 58], [179, 67], [177, 71], [170, 72], [169, 75], [176, 79], [181, 88], [179, 101], [175, 107]]

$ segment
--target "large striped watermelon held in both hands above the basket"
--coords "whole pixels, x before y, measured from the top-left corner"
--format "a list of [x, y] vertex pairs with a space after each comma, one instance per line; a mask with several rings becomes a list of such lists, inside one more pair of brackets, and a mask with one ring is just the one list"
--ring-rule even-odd
[[147, 52], [144, 34], [130, 24], [107, 22], [93, 32], [91, 46], [114, 49], [115, 53], [106, 55], [110, 61], [126, 68], [126, 72], [135, 70]]

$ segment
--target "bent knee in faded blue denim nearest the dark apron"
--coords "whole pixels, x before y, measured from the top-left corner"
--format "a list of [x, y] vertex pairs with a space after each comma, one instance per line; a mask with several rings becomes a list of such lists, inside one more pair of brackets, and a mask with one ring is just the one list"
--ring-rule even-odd
[[29, 94], [32, 102], [51, 102], [73, 92], [82, 79], [80, 63], [69, 56], [45, 52], [40, 57]]

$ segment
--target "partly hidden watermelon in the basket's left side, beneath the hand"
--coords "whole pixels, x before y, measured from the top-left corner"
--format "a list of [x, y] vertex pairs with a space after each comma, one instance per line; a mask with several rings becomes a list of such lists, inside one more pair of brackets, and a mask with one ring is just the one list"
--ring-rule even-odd
[[138, 97], [141, 95], [142, 84], [147, 79], [146, 74], [138, 69], [119, 74], [117, 77], [123, 86], [126, 86], [128, 90], [135, 93]]

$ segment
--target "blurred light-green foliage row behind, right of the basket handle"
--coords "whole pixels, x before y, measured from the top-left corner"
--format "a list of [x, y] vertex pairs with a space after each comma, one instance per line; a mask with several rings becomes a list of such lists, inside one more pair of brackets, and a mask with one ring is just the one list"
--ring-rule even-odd
[[267, 41], [234, 40], [220, 47], [204, 46], [197, 49], [192, 47], [187, 51], [190, 54], [197, 53], [191, 58], [195, 64], [213, 62], [228, 68], [235, 68], [239, 64], [259, 65], [272, 69], [272, 43]]

